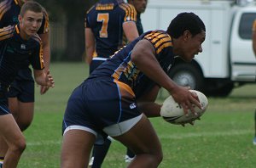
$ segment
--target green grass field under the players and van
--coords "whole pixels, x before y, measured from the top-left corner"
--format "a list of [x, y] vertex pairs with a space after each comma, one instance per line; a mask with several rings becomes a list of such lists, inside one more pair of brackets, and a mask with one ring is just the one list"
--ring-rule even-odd
[[[25, 132], [27, 148], [20, 168], [60, 167], [61, 121], [67, 98], [88, 75], [84, 63], [51, 64], [55, 88], [39, 95], [35, 116]], [[162, 93], [159, 101], [167, 94]], [[234, 89], [227, 98], [209, 98], [209, 107], [195, 126], [175, 126], [161, 118], [151, 119], [162, 143], [161, 168], [255, 167], [253, 112], [256, 85]], [[113, 142], [102, 168], [125, 167], [125, 147]]]

